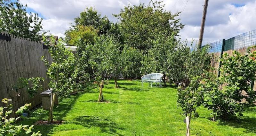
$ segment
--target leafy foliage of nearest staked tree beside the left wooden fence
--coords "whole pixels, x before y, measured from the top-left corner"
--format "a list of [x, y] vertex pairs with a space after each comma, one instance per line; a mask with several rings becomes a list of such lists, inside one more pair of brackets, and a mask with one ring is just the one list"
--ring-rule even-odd
[[56, 45], [51, 45], [51, 42], [46, 41], [45, 37], [44, 41], [49, 46], [49, 52], [53, 60], [52, 64], [49, 65], [49, 61], [42, 56], [42, 60], [48, 66], [47, 76], [50, 78], [48, 85], [52, 88], [52, 91], [58, 92], [58, 95], [62, 97], [69, 95], [70, 92], [84, 89], [81, 87], [87, 84], [88, 75], [80, 74], [76, 67], [74, 54], [64, 47], [62, 40], [59, 40]]

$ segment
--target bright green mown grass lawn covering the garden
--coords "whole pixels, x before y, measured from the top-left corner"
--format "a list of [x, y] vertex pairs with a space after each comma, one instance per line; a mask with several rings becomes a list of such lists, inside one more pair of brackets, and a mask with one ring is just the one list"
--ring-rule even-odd
[[[120, 88], [109, 81], [103, 88], [104, 99], [98, 103], [98, 90], [92, 89], [60, 100], [54, 119], [62, 125], [35, 125], [43, 136], [184, 136], [186, 123], [177, 108], [175, 87], [141, 87], [140, 81], [119, 80]], [[200, 117], [191, 120], [193, 136], [256, 136], [256, 108], [239, 119], [211, 121], [210, 111], [200, 107]], [[47, 120], [48, 111], [38, 108], [19, 123], [32, 125]]]

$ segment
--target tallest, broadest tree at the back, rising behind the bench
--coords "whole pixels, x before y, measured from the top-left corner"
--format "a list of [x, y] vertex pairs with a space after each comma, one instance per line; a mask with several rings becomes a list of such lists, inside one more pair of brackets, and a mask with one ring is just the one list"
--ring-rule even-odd
[[178, 16], [179, 13], [164, 10], [161, 1], [153, 0], [148, 5], [129, 5], [115, 15], [120, 20], [124, 43], [146, 52], [152, 48], [158, 33], [165, 33], [165, 37], [179, 33], [184, 25], [176, 19]]

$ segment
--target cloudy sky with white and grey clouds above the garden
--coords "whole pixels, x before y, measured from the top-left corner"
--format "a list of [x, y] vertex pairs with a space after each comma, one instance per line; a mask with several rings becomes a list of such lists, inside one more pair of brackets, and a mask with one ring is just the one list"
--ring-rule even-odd
[[[182, 12], [180, 31], [182, 40], [197, 41], [200, 32], [204, 0], [163, 0], [165, 10]], [[112, 14], [120, 13], [128, 4], [148, 4], [149, 0], [20, 0], [28, 5], [28, 12], [43, 18], [43, 29], [64, 37], [64, 32], [74, 23], [74, 18], [86, 7], [93, 7], [109, 20], [118, 20]], [[209, 0], [203, 45], [228, 39], [256, 29], [256, 0]]]

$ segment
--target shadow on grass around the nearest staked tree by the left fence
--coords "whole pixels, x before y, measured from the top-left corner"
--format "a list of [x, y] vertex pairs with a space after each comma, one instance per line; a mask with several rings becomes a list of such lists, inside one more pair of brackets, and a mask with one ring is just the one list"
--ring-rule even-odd
[[[54, 106], [53, 109], [53, 119], [62, 121], [64, 117], [66, 117], [67, 113], [72, 109], [72, 106], [76, 103], [76, 100], [81, 95], [78, 93], [70, 98], [59, 99], [59, 105]], [[23, 125], [33, 125], [38, 120], [47, 120], [49, 116], [49, 111], [43, 110], [43, 108], [35, 109], [30, 112], [30, 117], [21, 120], [17, 124]], [[43, 136], [47, 134], [52, 134], [51, 130], [58, 125], [35, 125], [33, 132], [40, 131]], [[26, 134], [24, 136], [30, 136], [31, 134]]]

